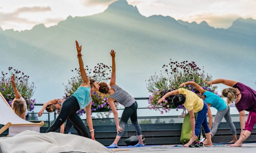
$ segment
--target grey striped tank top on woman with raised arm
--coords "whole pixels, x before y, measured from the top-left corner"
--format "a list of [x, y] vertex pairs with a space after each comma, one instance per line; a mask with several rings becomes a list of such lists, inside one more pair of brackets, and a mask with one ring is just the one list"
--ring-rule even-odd
[[116, 102], [120, 103], [124, 107], [130, 107], [133, 103], [135, 103], [136, 100], [118, 85], [113, 85], [111, 87], [114, 88], [115, 93], [109, 95], [109, 98], [115, 99]]

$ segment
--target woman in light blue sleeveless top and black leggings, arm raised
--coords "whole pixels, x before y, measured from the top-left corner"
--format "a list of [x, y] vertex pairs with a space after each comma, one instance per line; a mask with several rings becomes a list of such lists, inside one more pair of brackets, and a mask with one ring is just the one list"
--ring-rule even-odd
[[[53, 125], [51, 125], [51, 127], [47, 130], [47, 132], [56, 131], [65, 122], [65, 120], [69, 119], [73, 123], [73, 125], [80, 130], [82, 136], [95, 140], [94, 129], [91, 120], [91, 93], [93, 91], [98, 91], [99, 86], [95, 80], [89, 79], [86, 75], [81, 54], [82, 46], [79, 46], [77, 41], [76, 49], [78, 53], [77, 57], [83, 83], [80, 85], [80, 87], [78, 87], [76, 92], [69, 98], [67, 98], [66, 101], [62, 104], [60, 114], [54, 121]], [[87, 123], [90, 130], [85, 126], [84, 122], [82, 122], [82, 119], [76, 113], [79, 109], [84, 108], [86, 112]], [[89, 134], [89, 131], [91, 132], [91, 136]]]

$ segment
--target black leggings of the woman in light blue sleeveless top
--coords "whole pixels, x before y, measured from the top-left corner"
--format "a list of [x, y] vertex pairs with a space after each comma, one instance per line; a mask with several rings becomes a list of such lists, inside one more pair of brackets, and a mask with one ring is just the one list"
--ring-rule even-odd
[[62, 104], [62, 109], [60, 114], [54, 121], [53, 125], [47, 130], [48, 132], [54, 132], [65, 122], [65, 120], [69, 119], [75, 127], [81, 131], [82, 136], [86, 138], [91, 138], [89, 134], [89, 129], [85, 126], [82, 119], [76, 113], [80, 109], [78, 101], [75, 97], [70, 96], [66, 101]]

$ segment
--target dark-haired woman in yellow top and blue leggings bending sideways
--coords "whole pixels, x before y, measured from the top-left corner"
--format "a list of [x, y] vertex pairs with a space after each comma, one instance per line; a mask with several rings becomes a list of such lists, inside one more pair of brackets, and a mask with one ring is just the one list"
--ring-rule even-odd
[[[211, 130], [209, 129], [206, 117], [208, 106], [205, 101], [199, 98], [194, 92], [191, 92], [184, 88], [179, 88], [178, 90], [174, 90], [165, 94], [162, 98], [159, 99], [158, 103], [165, 101], [165, 98], [171, 95], [176, 95], [172, 99], [175, 107], [178, 107], [179, 105], [184, 105], [184, 107], [189, 111], [192, 132], [191, 139], [184, 146], [203, 147], [203, 142], [195, 141], [198, 138], [201, 126], [203, 126], [203, 129], [205, 131], [205, 136], [208, 140], [208, 144], [212, 145]], [[196, 122], [194, 113], [197, 113]]]

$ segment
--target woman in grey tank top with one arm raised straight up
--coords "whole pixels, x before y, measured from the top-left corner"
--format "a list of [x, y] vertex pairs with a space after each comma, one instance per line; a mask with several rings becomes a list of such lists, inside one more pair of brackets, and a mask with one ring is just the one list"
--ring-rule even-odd
[[[118, 141], [122, 137], [122, 134], [125, 131], [125, 125], [129, 118], [131, 119], [131, 123], [134, 126], [134, 129], [136, 130], [139, 143], [135, 146], [144, 146], [142, 142], [142, 135], [141, 135], [141, 129], [140, 125], [137, 121], [137, 108], [138, 104], [136, 100], [128, 94], [125, 90], [120, 88], [118, 85], [116, 85], [116, 61], [115, 56], [116, 52], [114, 50], [111, 50], [110, 55], [112, 57], [112, 74], [111, 74], [111, 80], [109, 85], [105, 82], [101, 82], [98, 85], [100, 85], [99, 92], [103, 94], [109, 94], [108, 103], [111, 107], [115, 122], [116, 122], [116, 129], [117, 129], [117, 136], [115, 141], [109, 146], [111, 148], [117, 147]], [[110, 87], [109, 87], [110, 86]], [[120, 122], [118, 121], [118, 111], [116, 110], [114, 102], [120, 103], [125, 107], [122, 117], [120, 119]]]

